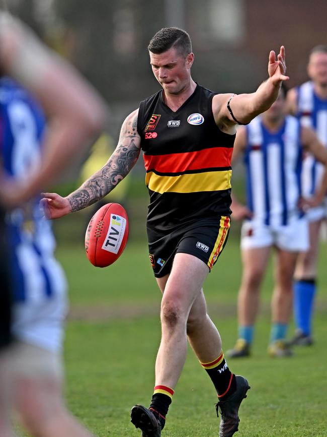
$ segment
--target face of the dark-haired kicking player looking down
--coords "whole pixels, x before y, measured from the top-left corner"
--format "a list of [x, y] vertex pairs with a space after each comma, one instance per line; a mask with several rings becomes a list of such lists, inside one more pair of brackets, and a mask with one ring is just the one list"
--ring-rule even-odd
[[150, 64], [153, 74], [167, 94], [180, 94], [190, 82], [190, 69], [194, 54], [186, 57], [175, 48], [155, 54], [150, 52]]

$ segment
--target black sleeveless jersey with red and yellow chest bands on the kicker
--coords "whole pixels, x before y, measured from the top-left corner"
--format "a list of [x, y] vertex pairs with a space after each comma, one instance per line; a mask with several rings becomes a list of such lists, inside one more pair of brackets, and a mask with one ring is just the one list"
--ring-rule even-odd
[[137, 132], [150, 194], [147, 226], [157, 232], [231, 213], [235, 135], [215, 123], [215, 94], [197, 85], [176, 112], [163, 103], [162, 90], [140, 103]]

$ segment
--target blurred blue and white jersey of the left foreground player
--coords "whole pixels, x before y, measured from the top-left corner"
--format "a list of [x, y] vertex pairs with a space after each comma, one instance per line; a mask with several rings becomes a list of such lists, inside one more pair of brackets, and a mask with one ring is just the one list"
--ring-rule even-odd
[[[0, 158], [10, 176], [24, 182], [37, 168], [45, 130], [45, 116], [34, 98], [11, 79], [0, 79]], [[8, 213], [6, 229], [15, 301], [41, 301], [62, 293], [65, 277], [54, 259], [55, 240], [39, 199]]]

